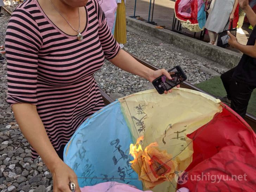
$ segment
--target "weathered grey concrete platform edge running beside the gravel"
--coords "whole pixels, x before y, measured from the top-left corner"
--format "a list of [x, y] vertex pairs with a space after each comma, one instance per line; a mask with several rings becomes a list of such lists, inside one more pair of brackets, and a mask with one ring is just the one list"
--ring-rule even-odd
[[180, 49], [189, 51], [201, 57], [213, 60], [216, 63], [224, 65], [228, 68], [236, 66], [241, 59], [242, 54], [236, 53], [222, 47], [213, 46], [204, 41], [187, 37], [185, 35], [175, 33], [167, 29], [157, 29], [154, 25], [126, 17], [127, 25], [136, 30], [146, 32], [162, 39], [166, 43], [173, 44]]

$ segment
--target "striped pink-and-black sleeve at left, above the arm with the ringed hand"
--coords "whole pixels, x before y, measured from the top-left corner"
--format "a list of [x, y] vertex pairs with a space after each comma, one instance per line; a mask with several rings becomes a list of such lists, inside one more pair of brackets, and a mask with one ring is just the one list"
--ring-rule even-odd
[[17, 8], [6, 31], [7, 102], [37, 105], [38, 51], [42, 37], [32, 15]]

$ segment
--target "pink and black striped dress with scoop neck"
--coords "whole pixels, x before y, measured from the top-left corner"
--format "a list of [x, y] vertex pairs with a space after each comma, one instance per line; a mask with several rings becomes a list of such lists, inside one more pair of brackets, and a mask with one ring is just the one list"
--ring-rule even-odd
[[94, 73], [120, 50], [98, 2], [89, 0], [85, 9], [82, 41], [55, 26], [37, 0], [15, 9], [6, 32], [7, 102], [36, 105], [57, 152], [104, 106]]

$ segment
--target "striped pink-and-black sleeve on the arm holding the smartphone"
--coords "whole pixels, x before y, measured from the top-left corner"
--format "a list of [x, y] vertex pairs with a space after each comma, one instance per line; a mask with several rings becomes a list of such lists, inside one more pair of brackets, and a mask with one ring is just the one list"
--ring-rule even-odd
[[101, 8], [101, 6], [98, 4], [98, 2], [95, 0], [95, 8], [98, 15], [99, 20], [99, 37], [101, 41], [101, 46], [104, 52], [105, 59], [113, 59], [117, 53], [120, 50], [120, 46], [115, 40], [113, 34], [111, 33], [107, 20], [105, 18], [105, 14]]

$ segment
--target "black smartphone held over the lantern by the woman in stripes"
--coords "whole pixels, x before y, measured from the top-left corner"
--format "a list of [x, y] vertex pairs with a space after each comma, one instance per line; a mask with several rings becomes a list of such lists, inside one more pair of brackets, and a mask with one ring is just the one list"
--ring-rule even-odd
[[163, 94], [164, 91], [168, 91], [179, 85], [181, 82], [187, 80], [187, 76], [180, 66], [175, 66], [174, 68], [168, 70], [168, 72], [170, 73], [172, 79], [168, 79], [165, 75], [162, 75], [152, 82], [159, 94]]

